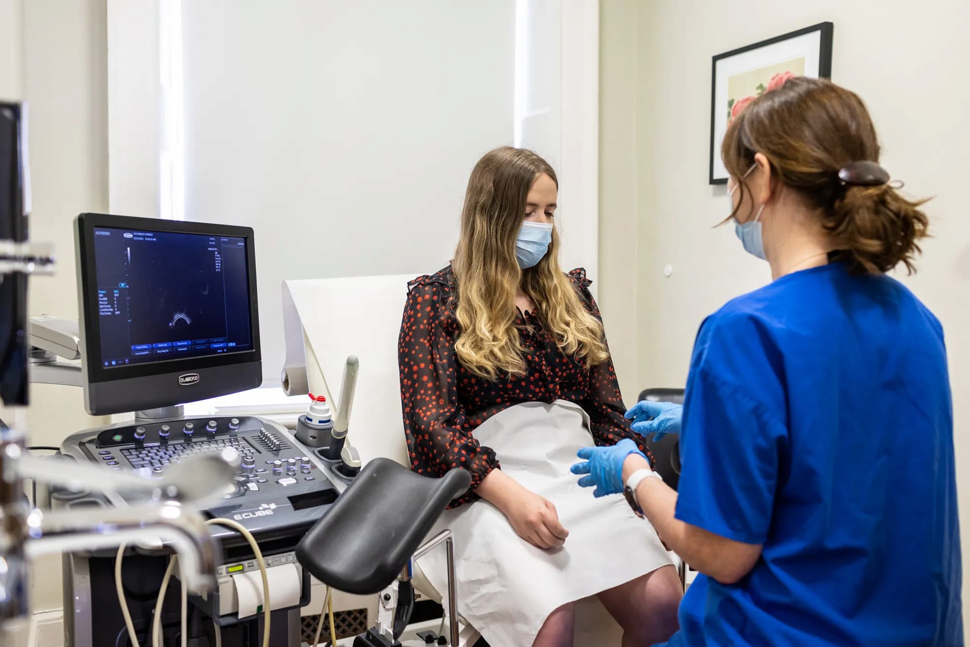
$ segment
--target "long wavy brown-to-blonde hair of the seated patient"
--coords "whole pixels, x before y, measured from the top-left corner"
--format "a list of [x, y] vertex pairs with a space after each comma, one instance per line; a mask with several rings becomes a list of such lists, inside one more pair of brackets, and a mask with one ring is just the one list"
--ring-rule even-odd
[[549, 251], [536, 266], [522, 270], [516, 261], [515, 240], [526, 217], [529, 190], [542, 174], [559, 186], [556, 172], [532, 150], [504, 146], [482, 157], [469, 178], [452, 262], [460, 327], [455, 350], [470, 372], [488, 379], [526, 370], [515, 327], [520, 285], [566, 355], [585, 359], [589, 367], [608, 357], [602, 324], [559, 267], [555, 227]]

